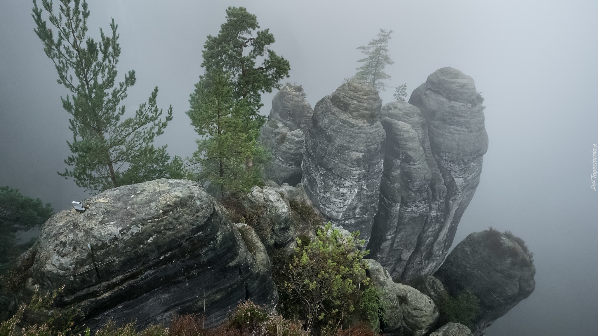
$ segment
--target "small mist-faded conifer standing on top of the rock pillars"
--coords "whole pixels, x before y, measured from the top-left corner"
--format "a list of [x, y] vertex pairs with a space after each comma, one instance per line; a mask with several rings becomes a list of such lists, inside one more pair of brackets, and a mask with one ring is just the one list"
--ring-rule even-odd
[[384, 72], [386, 65], [394, 64], [388, 56], [388, 40], [390, 39], [390, 33], [384, 29], [380, 29], [378, 38], [372, 39], [368, 45], [362, 45], [358, 47], [359, 50], [367, 57], [358, 60], [359, 63], [364, 65], [357, 68], [358, 72], [353, 76], [358, 80], [367, 81], [372, 84], [376, 90], [386, 90], [386, 85], [382, 83], [382, 80], [390, 80], [390, 75]]

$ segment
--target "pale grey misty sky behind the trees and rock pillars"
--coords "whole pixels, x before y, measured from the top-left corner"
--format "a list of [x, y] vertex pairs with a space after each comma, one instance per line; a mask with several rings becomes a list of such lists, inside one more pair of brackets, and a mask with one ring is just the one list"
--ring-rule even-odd
[[[394, 30], [389, 85], [407, 83], [411, 93], [444, 66], [473, 77], [486, 98], [490, 145], [453, 246], [489, 226], [511, 230], [536, 265], [535, 292], [487, 335], [596, 333], [597, 1], [90, 1], [89, 36], [99, 38], [114, 17], [119, 79], [136, 71], [129, 112], [156, 85], [158, 105], [172, 104], [174, 119], [156, 141], [170, 155], [196, 149], [188, 97], [203, 73], [206, 36], [218, 33], [228, 6], [248, 8], [270, 28], [271, 48], [291, 63], [288, 80], [303, 85], [312, 106], [355, 73], [355, 48], [380, 28]], [[0, 0], [0, 185], [58, 211], [87, 194], [56, 173], [72, 138], [60, 103], [68, 91], [33, 33], [31, 8], [27, 0]], [[263, 96], [264, 114], [274, 93]], [[381, 96], [390, 102], [392, 90]]]

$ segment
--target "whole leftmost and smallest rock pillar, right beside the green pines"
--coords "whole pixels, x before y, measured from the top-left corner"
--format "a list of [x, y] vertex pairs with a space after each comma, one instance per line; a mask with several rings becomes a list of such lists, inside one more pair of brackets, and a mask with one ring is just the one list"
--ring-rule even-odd
[[287, 84], [272, 99], [269, 120], [262, 127], [260, 142], [273, 155], [266, 178], [291, 186], [301, 182], [303, 142], [313, 109], [301, 85]]

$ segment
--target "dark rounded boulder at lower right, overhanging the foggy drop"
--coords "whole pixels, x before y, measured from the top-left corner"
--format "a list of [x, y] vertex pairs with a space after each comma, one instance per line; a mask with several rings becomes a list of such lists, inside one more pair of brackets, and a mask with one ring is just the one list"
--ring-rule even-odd
[[480, 299], [474, 335], [483, 335], [535, 288], [536, 268], [527, 248], [509, 236], [495, 230], [469, 234], [434, 274], [451, 295], [469, 289]]

